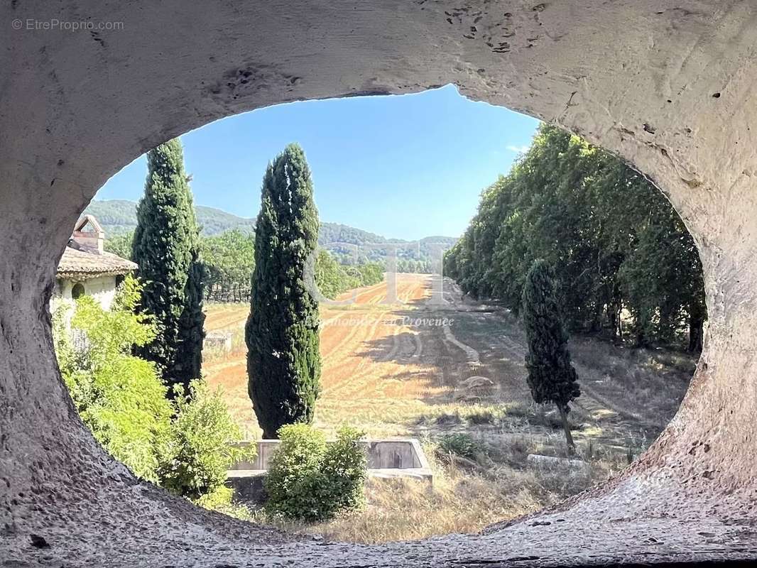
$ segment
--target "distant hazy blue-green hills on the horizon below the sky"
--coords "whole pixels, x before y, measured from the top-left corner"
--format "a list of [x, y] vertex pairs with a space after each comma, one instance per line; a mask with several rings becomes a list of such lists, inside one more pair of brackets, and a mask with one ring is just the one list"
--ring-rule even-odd
[[[97, 220], [105, 230], [106, 236], [128, 233], [137, 226], [137, 204], [135, 201], [126, 199], [109, 199], [106, 201], [92, 201], [85, 213], [97, 217]], [[238, 217], [226, 211], [197, 205], [198, 223], [202, 227], [202, 234], [205, 236], [220, 235], [231, 229], [240, 229], [245, 232], [254, 232], [255, 220], [245, 217]], [[406, 258], [415, 261], [427, 261], [431, 258], [433, 245], [443, 245], [449, 248], [455, 244], [456, 238], [446, 236], [430, 236], [421, 239], [419, 242], [405, 241], [403, 239], [387, 239], [386, 237], [369, 233], [362, 229], [342, 225], [341, 223], [321, 223], [321, 229], [318, 236], [318, 242], [321, 245], [329, 243], [344, 243], [344, 245], [331, 245], [328, 248], [340, 257], [340, 260], [349, 263], [350, 258], [354, 255], [354, 247], [347, 245], [358, 245], [359, 256], [362, 259], [379, 260], [386, 256], [386, 251], [374, 250], [361, 245], [379, 245], [394, 243], [396, 245], [408, 244], [406, 248], [400, 248], [397, 251], [397, 257]], [[412, 243], [412, 244], [410, 244]]]

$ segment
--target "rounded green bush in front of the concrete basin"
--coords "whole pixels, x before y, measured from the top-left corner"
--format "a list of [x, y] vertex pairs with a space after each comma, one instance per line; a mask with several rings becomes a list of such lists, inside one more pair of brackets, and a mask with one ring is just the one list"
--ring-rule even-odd
[[282, 427], [264, 482], [266, 513], [313, 522], [361, 507], [367, 476], [362, 437], [363, 432], [342, 428], [336, 442], [327, 444], [312, 426]]

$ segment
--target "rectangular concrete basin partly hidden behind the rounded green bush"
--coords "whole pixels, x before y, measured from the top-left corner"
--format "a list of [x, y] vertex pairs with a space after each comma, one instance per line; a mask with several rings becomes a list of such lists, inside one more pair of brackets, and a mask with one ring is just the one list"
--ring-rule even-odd
[[[366, 448], [368, 476], [371, 478], [413, 478], [434, 482], [434, 474], [418, 440], [391, 438], [361, 442]], [[279, 448], [279, 440], [238, 442], [239, 448], [257, 445], [257, 457], [251, 461], [235, 463], [227, 472], [226, 485], [234, 489], [242, 501], [263, 501], [263, 477], [268, 471], [271, 457]]]

